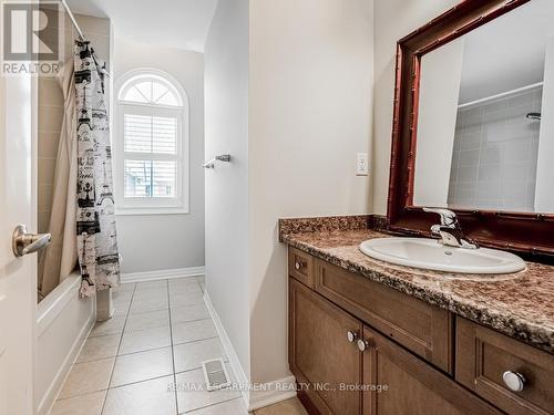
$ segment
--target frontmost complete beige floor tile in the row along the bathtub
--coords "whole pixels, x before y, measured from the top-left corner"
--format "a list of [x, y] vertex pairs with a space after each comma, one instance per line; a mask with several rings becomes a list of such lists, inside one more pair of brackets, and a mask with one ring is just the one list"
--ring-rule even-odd
[[84, 395], [107, 388], [115, 359], [74, 364], [59, 398]]

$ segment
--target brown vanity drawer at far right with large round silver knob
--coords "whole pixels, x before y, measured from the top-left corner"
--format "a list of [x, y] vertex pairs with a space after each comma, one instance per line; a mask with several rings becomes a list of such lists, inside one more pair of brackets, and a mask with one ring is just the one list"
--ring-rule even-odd
[[[504, 383], [507, 371], [525, 380], [521, 392]], [[509, 414], [554, 411], [554, 355], [462, 318], [456, 319], [455, 372], [458, 382]]]

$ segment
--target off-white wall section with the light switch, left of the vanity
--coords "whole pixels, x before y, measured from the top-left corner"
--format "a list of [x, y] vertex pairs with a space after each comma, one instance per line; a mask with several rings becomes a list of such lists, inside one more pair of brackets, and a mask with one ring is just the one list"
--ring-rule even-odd
[[250, 2], [253, 382], [288, 374], [286, 248], [277, 220], [370, 210], [356, 154], [371, 139], [371, 0]]

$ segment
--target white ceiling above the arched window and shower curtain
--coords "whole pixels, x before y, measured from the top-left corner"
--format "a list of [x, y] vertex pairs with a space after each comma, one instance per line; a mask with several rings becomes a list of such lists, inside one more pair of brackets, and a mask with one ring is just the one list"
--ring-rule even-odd
[[204, 51], [217, 0], [68, 0], [74, 13], [110, 18], [116, 37]]

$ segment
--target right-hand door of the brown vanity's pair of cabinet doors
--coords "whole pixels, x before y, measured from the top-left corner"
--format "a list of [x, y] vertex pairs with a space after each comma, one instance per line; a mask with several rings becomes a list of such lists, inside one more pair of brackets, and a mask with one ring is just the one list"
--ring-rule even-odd
[[368, 344], [363, 352], [365, 415], [501, 414], [375, 331], [365, 328], [363, 340]]

